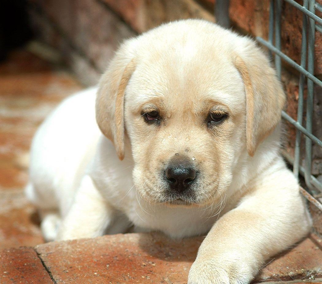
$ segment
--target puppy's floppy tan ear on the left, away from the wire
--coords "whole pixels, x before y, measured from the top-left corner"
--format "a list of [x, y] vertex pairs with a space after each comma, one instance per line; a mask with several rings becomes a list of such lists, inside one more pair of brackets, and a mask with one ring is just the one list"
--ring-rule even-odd
[[[133, 41], [133, 40], [132, 40]], [[109, 138], [118, 158], [124, 158], [124, 97], [128, 80], [136, 67], [131, 41], [118, 50], [99, 82], [96, 97], [96, 121]]]

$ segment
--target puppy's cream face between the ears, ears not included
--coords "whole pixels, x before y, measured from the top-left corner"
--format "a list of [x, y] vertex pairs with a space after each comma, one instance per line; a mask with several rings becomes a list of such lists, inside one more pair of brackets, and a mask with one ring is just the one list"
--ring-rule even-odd
[[[233, 64], [210, 48], [145, 53], [128, 83], [125, 123], [134, 182], [148, 202], [203, 204], [220, 197], [245, 145], [245, 92]], [[229, 82], [229, 83], [228, 83]]]

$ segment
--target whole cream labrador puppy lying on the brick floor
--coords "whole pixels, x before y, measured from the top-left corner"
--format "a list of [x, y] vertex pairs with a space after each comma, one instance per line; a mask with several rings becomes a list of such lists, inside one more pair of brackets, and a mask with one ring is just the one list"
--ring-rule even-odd
[[279, 154], [284, 102], [260, 48], [216, 24], [126, 40], [34, 137], [26, 193], [45, 238], [207, 234], [188, 283], [250, 282], [311, 226]]

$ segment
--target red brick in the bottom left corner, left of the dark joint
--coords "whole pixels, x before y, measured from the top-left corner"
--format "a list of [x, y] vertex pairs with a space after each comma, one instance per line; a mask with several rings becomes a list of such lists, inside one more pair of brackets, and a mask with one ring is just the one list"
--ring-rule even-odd
[[52, 284], [48, 272], [32, 248], [0, 251], [1, 284]]

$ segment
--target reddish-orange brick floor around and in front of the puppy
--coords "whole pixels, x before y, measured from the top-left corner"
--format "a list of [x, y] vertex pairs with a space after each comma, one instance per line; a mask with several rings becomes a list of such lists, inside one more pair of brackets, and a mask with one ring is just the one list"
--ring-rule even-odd
[[[28, 150], [43, 118], [81, 85], [30, 52], [0, 63], [0, 283], [186, 283], [202, 237], [118, 234], [43, 244], [35, 208], [24, 197]], [[263, 267], [254, 282], [322, 283], [315, 234]]]

